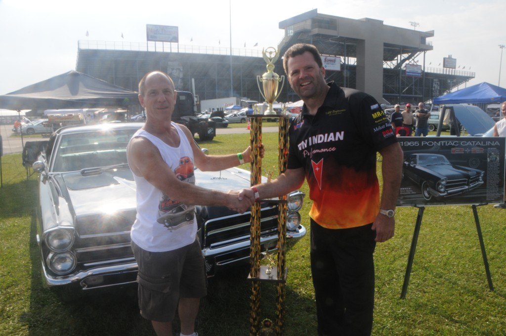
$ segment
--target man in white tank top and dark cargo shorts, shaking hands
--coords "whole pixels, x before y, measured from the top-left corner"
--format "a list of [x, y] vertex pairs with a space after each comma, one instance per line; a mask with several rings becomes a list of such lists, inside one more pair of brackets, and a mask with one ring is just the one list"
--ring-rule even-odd
[[146, 123], [128, 145], [137, 185], [137, 218], [131, 237], [139, 265], [139, 307], [158, 336], [172, 336], [176, 310], [181, 335], [196, 335], [195, 319], [206, 288], [194, 205], [227, 206], [243, 213], [255, 201], [240, 199], [237, 192], [195, 186], [194, 164], [201, 171], [227, 169], [249, 162], [250, 148], [239, 154], [205, 155], [190, 131], [171, 121], [176, 97], [167, 74], [147, 73], [139, 82]]

